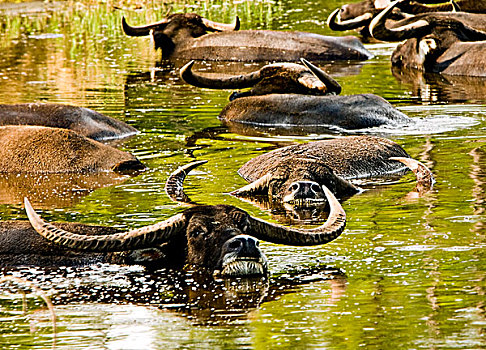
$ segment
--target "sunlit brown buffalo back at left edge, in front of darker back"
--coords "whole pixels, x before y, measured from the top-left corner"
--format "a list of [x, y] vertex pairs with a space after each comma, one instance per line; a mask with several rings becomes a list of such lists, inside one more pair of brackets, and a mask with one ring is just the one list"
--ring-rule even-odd
[[71, 130], [0, 127], [0, 173], [124, 172], [144, 168], [132, 154]]

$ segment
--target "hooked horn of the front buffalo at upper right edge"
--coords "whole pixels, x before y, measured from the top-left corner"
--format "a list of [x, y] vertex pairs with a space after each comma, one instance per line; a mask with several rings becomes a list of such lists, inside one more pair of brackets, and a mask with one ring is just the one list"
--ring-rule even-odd
[[[409, 0], [399, 0], [390, 4], [386, 9], [381, 11], [378, 16], [373, 18], [370, 23], [369, 31], [371, 35], [378, 39], [384, 41], [400, 41], [411, 38], [417, 35], [419, 30], [425, 30], [429, 27], [429, 22], [426, 20], [418, 20], [406, 25], [400, 26], [398, 28], [387, 28], [386, 19], [388, 15], [393, 11], [393, 9], [400, 3]], [[407, 21], [409, 22], [409, 21]], [[400, 23], [400, 21], [398, 22]]]

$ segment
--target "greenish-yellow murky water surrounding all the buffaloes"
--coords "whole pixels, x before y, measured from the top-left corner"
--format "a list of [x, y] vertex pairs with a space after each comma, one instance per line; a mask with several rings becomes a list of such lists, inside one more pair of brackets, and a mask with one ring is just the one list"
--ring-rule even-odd
[[[49, 220], [133, 228], [183, 207], [165, 195], [167, 175], [194, 159], [209, 162], [186, 180], [203, 204], [227, 203], [288, 222], [282, 213], [227, 195], [245, 184], [247, 160], [293, 142], [339, 136], [223, 127], [229, 91], [187, 86], [159, 62], [148, 38], [127, 38], [121, 17], [143, 24], [172, 9], [243, 28], [325, 27], [341, 1], [0, 3], [0, 101], [70, 103], [126, 121], [141, 131], [120, 144], [149, 170], [136, 177], [0, 180], [0, 218], [25, 219], [32, 198]], [[116, 6], [119, 9], [114, 9]], [[394, 45], [370, 44], [375, 58], [323, 64], [343, 94], [390, 100], [414, 127], [367, 130], [389, 137], [433, 170], [437, 183], [413, 198], [413, 177], [367, 188], [343, 203], [345, 233], [320, 247], [262, 243], [269, 280], [200, 282], [172, 271], [97, 264], [4, 271], [51, 297], [2, 284], [3, 348], [57, 349], [483, 349], [486, 348], [486, 81], [390, 70]], [[204, 64], [198, 66], [204, 69]], [[256, 64], [208, 69], [249, 71]], [[75, 184], [73, 186], [72, 184]], [[209, 283], [209, 284], [208, 284]], [[25, 309], [25, 308], [24, 308]]]

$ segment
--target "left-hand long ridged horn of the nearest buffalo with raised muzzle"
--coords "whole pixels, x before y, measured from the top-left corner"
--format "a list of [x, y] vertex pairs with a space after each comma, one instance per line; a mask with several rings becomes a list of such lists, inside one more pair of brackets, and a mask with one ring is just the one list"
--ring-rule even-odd
[[88, 236], [65, 231], [45, 222], [24, 199], [25, 211], [32, 227], [49, 241], [71, 249], [90, 252], [119, 252], [131, 249], [149, 248], [176, 237], [185, 228], [184, 214], [128, 232], [112, 235]]

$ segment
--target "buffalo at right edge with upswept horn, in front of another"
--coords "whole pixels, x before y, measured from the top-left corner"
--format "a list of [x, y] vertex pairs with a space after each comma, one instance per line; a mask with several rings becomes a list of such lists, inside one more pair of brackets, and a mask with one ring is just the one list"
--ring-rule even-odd
[[406, 40], [393, 52], [393, 66], [449, 75], [486, 76], [486, 15], [422, 14], [398, 21], [389, 28], [386, 18], [400, 2], [391, 4], [370, 24], [370, 32], [377, 39]]

